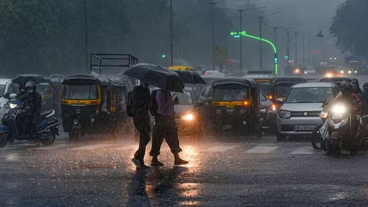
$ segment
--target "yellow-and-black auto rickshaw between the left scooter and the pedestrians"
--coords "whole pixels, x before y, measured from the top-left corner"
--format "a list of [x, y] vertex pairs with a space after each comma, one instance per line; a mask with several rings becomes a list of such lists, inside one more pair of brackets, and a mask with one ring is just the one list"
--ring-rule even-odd
[[86, 133], [115, 131], [116, 90], [110, 79], [69, 76], [62, 87], [61, 117], [70, 140], [78, 141]]

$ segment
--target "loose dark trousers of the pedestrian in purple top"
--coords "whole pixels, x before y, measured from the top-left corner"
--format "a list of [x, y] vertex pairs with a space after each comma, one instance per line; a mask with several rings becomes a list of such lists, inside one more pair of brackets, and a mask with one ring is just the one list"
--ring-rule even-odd
[[172, 153], [181, 152], [178, 139], [178, 127], [176, 126], [175, 117], [156, 115], [155, 121], [156, 123], [153, 127], [152, 135], [152, 149], [149, 155], [158, 156], [160, 154], [163, 138], [165, 138]]

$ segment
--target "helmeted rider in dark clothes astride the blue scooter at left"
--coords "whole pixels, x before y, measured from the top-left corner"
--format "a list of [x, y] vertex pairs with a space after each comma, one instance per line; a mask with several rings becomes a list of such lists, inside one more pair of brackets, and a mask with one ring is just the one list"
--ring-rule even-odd
[[41, 112], [41, 95], [36, 91], [36, 84], [28, 81], [25, 84], [26, 93], [19, 99], [25, 109], [24, 123], [28, 126], [28, 132], [34, 138], [36, 145], [40, 145], [40, 137], [36, 125], [37, 117]]

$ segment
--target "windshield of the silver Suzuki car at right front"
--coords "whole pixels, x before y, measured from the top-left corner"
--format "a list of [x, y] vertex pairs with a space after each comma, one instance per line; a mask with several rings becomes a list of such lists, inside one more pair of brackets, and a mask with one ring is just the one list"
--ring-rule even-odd
[[333, 98], [332, 88], [292, 88], [285, 103], [322, 103]]

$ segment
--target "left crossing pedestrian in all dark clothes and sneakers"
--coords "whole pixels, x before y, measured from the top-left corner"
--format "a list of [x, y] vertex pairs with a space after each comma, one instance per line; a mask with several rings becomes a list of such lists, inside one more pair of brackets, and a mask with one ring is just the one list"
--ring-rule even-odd
[[148, 102], [149, 102], [149, 89], [148, 84], [141, 82], [133, 88], [132, 100], [133, 100], [133, 123], [135, 128], [139, 132], [139, 147], [134, 154], [132, 162], [137, 168], [149, 169], [150, 167], [144, 164], [144, 155], [146, 153], [146, 145], [149, 142], [149, 116], [148, 116]]

